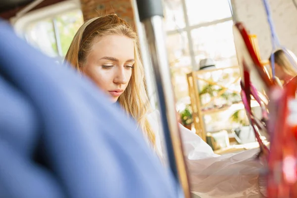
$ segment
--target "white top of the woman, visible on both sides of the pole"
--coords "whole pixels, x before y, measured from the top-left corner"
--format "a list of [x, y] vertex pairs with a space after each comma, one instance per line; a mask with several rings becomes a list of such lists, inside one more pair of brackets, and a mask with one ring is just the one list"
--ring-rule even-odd
[[[148, 121], [155, 132], [156, 152], [165, 154], [160, 115], [153, 111]], [[201, 198], [260, 198], [258, 170], [262, 165], [252, 157], [258, 149], [218, 155], [197, 134], [180, 124], [191, 190]]]

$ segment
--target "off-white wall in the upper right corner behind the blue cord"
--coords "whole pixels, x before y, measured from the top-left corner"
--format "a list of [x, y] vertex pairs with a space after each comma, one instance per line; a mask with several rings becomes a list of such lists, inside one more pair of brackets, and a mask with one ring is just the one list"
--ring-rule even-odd
[[[237, 20], [257, 35], [262, 59], [272, 51], [270, 30], [262, 0], [231, 0]], [[297, 0], [296, 0], [297, 1]], [[268, 0], [280, 43], [297, 54], [297, 8], [292, 0]]]

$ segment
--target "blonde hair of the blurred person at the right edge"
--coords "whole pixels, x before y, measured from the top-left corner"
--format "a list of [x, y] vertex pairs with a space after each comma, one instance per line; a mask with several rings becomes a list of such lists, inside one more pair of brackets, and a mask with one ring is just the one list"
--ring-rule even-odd
[[[297, 76], [297, 68], [292, 65], [292, 62], [290, 61], [290, 59], [292, 61], [295, 61], [297, 63], [297, 58], [295, 56], [295, 54], [286, 49], [288, 53], [286, 53], [283, 49], [278, 49], [276, 50], [273, 54], [274, 54], [274, 62], [276, 64], [278, 64], [279, 66], [282, 67], [283, 71], [292, 77]], [[289, 57], [290, 56], [290, 59]], [[271, 55], [269, 57], [269, 61], [271, 61]]]

